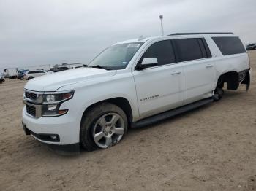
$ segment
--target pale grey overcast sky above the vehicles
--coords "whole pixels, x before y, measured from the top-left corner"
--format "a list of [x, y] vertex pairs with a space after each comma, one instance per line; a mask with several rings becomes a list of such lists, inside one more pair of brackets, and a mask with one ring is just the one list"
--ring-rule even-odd
[[84, 64], [116, 42], [176, 32], [232, 31], [256, 42], [255, 0], [0, 0], [0, 72]]

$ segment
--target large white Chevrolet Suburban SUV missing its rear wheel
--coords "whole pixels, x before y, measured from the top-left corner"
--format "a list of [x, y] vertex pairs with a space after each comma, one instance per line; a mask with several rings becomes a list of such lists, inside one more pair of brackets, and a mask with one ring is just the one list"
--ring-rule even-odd
[[231, 33], [174, 34], [108, 47], [89, 66], [29, 81], [27, 135], [55, 149], [105, 149], [139, 127], [218, 101], [250, 83], [249, 56]]

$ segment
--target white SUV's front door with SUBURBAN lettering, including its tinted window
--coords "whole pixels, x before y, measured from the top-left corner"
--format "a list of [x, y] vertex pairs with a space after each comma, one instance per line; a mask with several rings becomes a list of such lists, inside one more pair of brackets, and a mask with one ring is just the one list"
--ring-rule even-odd
[[140, 118], [181, 106], [184, 99], [182, 64], [176, 63], [170, 40], [155, 42], [143, 58], [157, 58], [157, 66], [133, 71]]

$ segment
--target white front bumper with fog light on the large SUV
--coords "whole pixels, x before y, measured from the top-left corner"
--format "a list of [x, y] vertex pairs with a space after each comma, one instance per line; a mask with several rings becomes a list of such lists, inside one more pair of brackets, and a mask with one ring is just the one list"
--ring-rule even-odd
[[[60, 117], [31, 117], [23, 108], [23, 128], [38, 141], [45, 144], [67, 145], [78, 144], [80, 124], [71, 114]], [[53, 139], [56, 138], [56, 139]]]

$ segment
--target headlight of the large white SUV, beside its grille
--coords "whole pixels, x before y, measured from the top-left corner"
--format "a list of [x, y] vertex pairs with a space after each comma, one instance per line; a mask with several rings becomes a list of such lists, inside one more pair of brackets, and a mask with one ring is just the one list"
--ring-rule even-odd
[[64, 101], [68, 101], [74, 95], [74, 91], [64, 93], [45, 93], [42, 96], [42, 117], [56, 117], [67, 114], [68, 109], [60, 110]]

